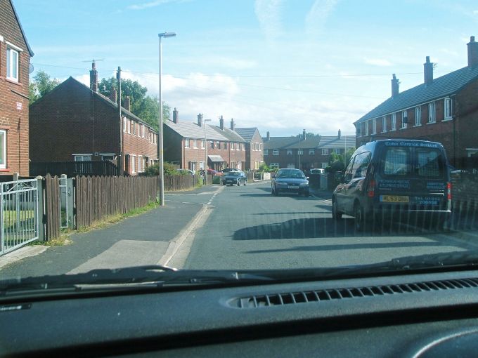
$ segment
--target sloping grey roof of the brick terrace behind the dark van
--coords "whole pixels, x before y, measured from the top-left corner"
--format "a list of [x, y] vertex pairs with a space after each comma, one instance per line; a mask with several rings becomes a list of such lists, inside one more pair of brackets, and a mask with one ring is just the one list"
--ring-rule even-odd
[[478, 79], [478, 67], [463, 67], [444, 76], [434, 79], [432, 84], [425, 86], [420, 84], [406, 91], [399, 93], [395, 98], [389, 98], [375, 107], [366, 115], [361, 117], [354, 124], [361, 123], [368, 119], [382, 117], [385, 114], [404, 110], [422, 103], [444, 98], [460, 91], [463, 86]]

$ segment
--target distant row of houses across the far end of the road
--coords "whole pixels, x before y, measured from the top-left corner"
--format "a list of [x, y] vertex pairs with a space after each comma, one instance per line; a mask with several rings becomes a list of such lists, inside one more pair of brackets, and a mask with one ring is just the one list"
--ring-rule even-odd
[[271, 137], [267, 132], [266, 138], [263, 138], [266, 164], [277, 168], [301, 168], [303, 171], [310, 171], [328, 166], [332, 152], [344, 154], [346, 150], [355, 147], [355, 135], [342, 135], [340, 130], [337, 135], [314, 137], [307, 137], [304, 131], [300, 138], [299, 141], [299, 136]]

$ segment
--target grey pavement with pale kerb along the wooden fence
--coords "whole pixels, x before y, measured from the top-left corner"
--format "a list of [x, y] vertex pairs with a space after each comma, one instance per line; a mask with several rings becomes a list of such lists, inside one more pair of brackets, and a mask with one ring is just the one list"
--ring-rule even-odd
[[[166, 192], [166, 206], [102, 229], [75, 233], [65, 246], [25, 246], [0, 257], [1, 279], [86, 272], [167, 261], [221, 186]], [[196, 219], [196, 220], [195, 220]]]

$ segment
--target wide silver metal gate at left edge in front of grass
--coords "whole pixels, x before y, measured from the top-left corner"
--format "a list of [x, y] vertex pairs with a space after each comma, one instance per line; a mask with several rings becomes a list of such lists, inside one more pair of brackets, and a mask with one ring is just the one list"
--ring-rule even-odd
[[0, 255], [39, 237], [37, 180], [0, 185]]

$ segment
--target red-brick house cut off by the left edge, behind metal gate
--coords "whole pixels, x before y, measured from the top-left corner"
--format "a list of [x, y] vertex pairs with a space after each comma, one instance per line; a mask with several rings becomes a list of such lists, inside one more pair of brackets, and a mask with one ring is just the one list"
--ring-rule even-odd
[[28, 175], [28, 74], [33, 56], [10, 0], [0, 0], [0, 175]]

